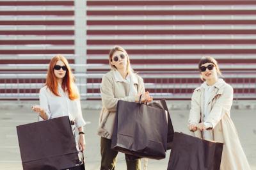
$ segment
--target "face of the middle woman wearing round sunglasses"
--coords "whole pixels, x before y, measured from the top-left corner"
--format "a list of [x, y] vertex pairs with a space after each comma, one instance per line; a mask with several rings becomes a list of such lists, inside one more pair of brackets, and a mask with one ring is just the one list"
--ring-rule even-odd
[[112, 56], [111, 64], [116, 66], [117, 70], [124, 69], [127, 66], [127, 56], [124, 52], [116, 50]]

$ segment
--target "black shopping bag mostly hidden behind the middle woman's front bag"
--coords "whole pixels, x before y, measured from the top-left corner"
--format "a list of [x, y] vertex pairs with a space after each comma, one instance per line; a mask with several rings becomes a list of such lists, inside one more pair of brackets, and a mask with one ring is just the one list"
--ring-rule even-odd
[[152, 102], [148, 105], [150, 105], [152, 107], [164, 109], [168, 112], [168, 114], [167, 114], [167, 120], [168, 120], [167, 150], [172, 149], [172, 141], [173, 141], [174, 130], [173, 130], [173, 126], [172, 126], [172, 120], [171, 120], [171, 117], [170, 117], [170, 112], [168, 111], [168, 107], [166, 105], [165, 100], [159, 100], [157, 102]]

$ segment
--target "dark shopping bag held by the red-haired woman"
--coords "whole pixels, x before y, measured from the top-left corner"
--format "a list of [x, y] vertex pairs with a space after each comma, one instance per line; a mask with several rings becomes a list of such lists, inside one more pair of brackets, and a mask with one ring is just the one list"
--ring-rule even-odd
[[67, 169], [79, 163], [68, 116], [17, 126], [24, 170]]

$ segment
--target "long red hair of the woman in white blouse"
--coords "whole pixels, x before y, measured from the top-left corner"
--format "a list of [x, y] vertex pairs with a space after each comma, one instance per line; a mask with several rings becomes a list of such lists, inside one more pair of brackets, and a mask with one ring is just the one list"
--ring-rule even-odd
[[67, 71], [66, 71], [65, 77], [63, 77], [61, 88], [64, 91], [68, 92], [68, 98], [70, 98], [70, 100], [75, 100], [79, 98], [79, 94], [74, 86], [74, 81], [75, 81], [74, 75], [71, 72], [71, 68], [68, 65], [67, 59], [61, 54], [58, 54], [51, 59], [49, 63], [45, 85], [47, 86], [47, 88], [50, 89], [50, 91], [54, 95], [60, 97], [60, 94], [58, 93], [58, 82], [57, 82], [56, 76], [54, 75], [54, 66], [56, 65], [57, 61], [62, 61], [65, 64], [65, 66], [67, 66]]

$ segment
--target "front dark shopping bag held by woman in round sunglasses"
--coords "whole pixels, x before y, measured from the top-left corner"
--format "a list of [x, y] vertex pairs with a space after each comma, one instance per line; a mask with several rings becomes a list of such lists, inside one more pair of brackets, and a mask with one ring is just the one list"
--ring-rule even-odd
[[164, 109], [119, 100], [111, 148], [135, 157], [165, 158], [167, 124]]

